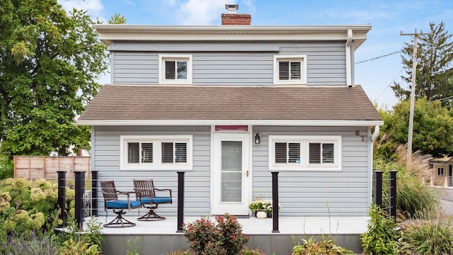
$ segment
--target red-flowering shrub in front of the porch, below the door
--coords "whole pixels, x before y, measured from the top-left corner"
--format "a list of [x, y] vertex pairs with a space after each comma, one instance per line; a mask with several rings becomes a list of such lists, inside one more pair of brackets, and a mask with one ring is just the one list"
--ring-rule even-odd
[[245, 248], [248, 237], [233, 215], [216, 217], [214, 224], [206, 217], [183, 225], [184, 237], [197, 255], [236, 255]]

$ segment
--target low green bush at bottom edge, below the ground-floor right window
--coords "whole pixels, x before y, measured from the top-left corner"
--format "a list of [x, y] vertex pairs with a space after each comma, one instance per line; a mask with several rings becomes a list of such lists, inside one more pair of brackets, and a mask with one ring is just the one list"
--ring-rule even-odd
[[343, 247], [337, 246], [333, 239], [323, 239], [319, 242], [316, 242], [313, 237], [310, 239], [302, 240], [304, 244], [297, 244], [292, 247], [292, 255], [306, 255], [306, 254], [316, 254], [316, 255], [346, 255], [346, 254], [355, 254], [352, 251], [348, 251]]

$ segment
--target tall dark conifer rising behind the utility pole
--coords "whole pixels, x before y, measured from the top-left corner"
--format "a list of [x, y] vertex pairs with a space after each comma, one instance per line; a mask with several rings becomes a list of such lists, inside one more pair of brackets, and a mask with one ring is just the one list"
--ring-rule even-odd
[[[439, 25], [430, 23], [430, 33], [420, 35], [417, 50], [417, 72], [415, 74], [415, 98], [425, 98], [427, 101], [444, 100], [453, 96], [453, 42], [452, 34], [445, 30], [445, 23]], [[405, 43], [403, 47], [402, 63], [408, 77], [401, 77], [411, 84], [412, 81], [412, 53], [413, 43]], [[450, 81], [449, 81], [450, 79]], [[401, 84], [391, 86], [395, 96], [403, 100], [411, 96], [411, 86], [403, 89]], [[445, 106], [449, 101], [445, 100]]]

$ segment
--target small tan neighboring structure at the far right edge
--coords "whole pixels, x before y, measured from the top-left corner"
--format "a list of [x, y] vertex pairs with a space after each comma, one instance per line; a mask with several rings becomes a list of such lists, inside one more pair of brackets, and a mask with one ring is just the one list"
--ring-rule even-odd
[[430, 160], [432, 166], [432, 185], [453, 186], [453, 160], [452, 157], [442, 157]]

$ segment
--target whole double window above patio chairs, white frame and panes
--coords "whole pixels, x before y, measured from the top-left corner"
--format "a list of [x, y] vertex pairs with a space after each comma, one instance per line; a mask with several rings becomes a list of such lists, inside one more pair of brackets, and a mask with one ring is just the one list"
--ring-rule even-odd
[[122, 136], [121, 169], [191, 169], [192, 137]]

